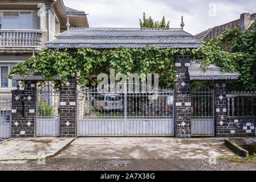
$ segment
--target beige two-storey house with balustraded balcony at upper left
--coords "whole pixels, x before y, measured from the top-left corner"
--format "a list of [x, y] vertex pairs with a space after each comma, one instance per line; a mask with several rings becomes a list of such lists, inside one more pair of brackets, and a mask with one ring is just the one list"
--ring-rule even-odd
[[1, 0], [0, 96], [10, 94], [17, 81], [6, 78], [11, 67], [45, 47], [45, 42], [70, 27], [88, 27], [87, 14], [64, 6], [62, 0]]

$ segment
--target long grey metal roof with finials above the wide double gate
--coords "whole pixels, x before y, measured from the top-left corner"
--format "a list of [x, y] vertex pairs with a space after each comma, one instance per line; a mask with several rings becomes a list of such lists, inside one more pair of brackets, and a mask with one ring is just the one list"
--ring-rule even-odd
[[70, 28], [46, 43], [47, 48], [197, 48], [204, 42], [181, 28]]

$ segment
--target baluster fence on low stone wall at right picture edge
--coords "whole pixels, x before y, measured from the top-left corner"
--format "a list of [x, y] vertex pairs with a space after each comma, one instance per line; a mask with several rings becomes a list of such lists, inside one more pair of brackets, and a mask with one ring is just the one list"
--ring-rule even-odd
[[256, 92], [231, 92], [227, 97], [227, 116], [256, 116]]

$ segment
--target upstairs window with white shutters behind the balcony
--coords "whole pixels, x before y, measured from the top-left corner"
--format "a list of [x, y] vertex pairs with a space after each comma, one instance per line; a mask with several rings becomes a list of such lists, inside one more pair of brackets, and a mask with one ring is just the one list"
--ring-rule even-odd
[[2, 29], [32, 29], [31, 12], [3, 11], [0, 12], [0, 18]]

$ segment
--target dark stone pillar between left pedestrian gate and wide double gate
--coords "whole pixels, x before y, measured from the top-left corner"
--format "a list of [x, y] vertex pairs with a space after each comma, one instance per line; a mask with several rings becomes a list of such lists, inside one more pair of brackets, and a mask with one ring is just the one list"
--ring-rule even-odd
[[76, 77], [60, 88], [60, 137], [76, 137]]

